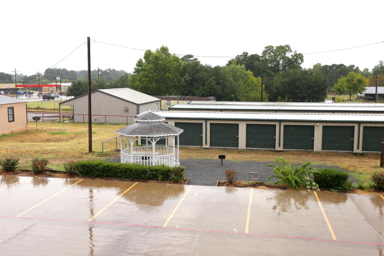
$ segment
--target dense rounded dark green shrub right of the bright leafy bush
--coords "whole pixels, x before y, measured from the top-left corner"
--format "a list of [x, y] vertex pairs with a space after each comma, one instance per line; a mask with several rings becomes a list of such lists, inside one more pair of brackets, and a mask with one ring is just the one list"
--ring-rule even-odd
[[319, 169], [313, 174], [313, 178], [320, 188], [347, 191], [352, 188], [352, 182], [348, 181], [348, 173], [341, 170], [331, 168]]

